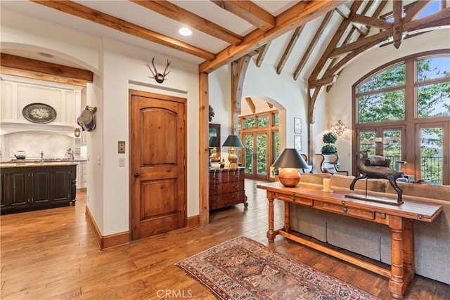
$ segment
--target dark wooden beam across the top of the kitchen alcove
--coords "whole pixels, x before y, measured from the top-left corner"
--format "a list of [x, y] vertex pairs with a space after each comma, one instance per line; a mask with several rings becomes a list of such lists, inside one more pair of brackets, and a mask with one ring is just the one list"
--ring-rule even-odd
[[[43, 78], [43, 74], [50, 77], [64, 77], [75, 79], [75, 81], [92, 82], [94, 73], [88, 70], [78, 69], [76, 67], [67, 67], [55, 63], [46, 63], [41, 60], [12, 56], [11, 54], [1, 53], [0, 65], [9, 69], [27, 71], [28, 74], [34, 74], [34, 78]], [[29, 77], [30, 78], [30, 77]], [[54, 80], [52, 80], [54, 81]]]

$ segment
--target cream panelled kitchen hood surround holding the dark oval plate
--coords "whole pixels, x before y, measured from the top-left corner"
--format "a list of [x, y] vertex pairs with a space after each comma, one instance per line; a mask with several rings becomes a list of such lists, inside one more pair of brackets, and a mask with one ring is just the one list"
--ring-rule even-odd
[[73, 132], [82, 87], [1, 74], [2, 133], [27, 130]]

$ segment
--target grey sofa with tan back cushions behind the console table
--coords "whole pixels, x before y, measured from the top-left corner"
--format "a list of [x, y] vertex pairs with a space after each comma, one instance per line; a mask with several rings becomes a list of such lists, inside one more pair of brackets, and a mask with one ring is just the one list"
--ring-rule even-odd
[[[394, 199], [397, 197], [397, 192], [385, 179], [359, 180], [354, 190], [350, 190], [354, 176], [302, 174], [299, 186], [322, 185], [323, 178], [331, 178], [333, 190], [365, 193], [367, 185], [371, 195], [389, 193]], [[432, 223], [413, 223], [415, 266], [416, 274], [450, 284], [450, 185], [401, 182], [398, 185], [403, 190], [404, 201], [443, 206], [441, 214]], [[290, 204], [290, 225], [303, 235], [390, 264], [391, 230], [383, 224]]]

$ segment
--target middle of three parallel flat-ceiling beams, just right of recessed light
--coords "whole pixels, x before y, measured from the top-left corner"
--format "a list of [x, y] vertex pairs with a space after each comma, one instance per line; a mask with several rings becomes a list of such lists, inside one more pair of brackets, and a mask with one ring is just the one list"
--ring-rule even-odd
[[216, 37], [217, 39], [221, 39], [222, 41], [226, 41], [229, 44], [239, 44], [242, 42], [243, 37], [232, 32], [231, 30], [227, 30], [224, 27], [221, 27], [210, 20], [202, 18], [190, 11], [186, 11], [186, 9], [181, 8], [180, 6], [176, 6], [175, 4], [170, 3], [169, 1], [150, 1], [150, 0], [129, 0], [135, 4], [139, 4], [145, 8], [148, 8], [160, 15], [165, 15], [167, 18], [171, 18], [178, 22], [183, 23], [186, 26], [190, 26], [195, 28], [196, 30], [200, 30], [201, 32], [205, 32], [205, 34], [209, 34], [212, 37]]

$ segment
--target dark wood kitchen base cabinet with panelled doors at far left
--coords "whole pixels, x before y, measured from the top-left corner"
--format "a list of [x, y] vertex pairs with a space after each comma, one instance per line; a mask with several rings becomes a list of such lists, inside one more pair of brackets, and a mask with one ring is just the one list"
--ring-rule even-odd
[[1, 214], [75, 205], [77, 164], [2, 167]]

